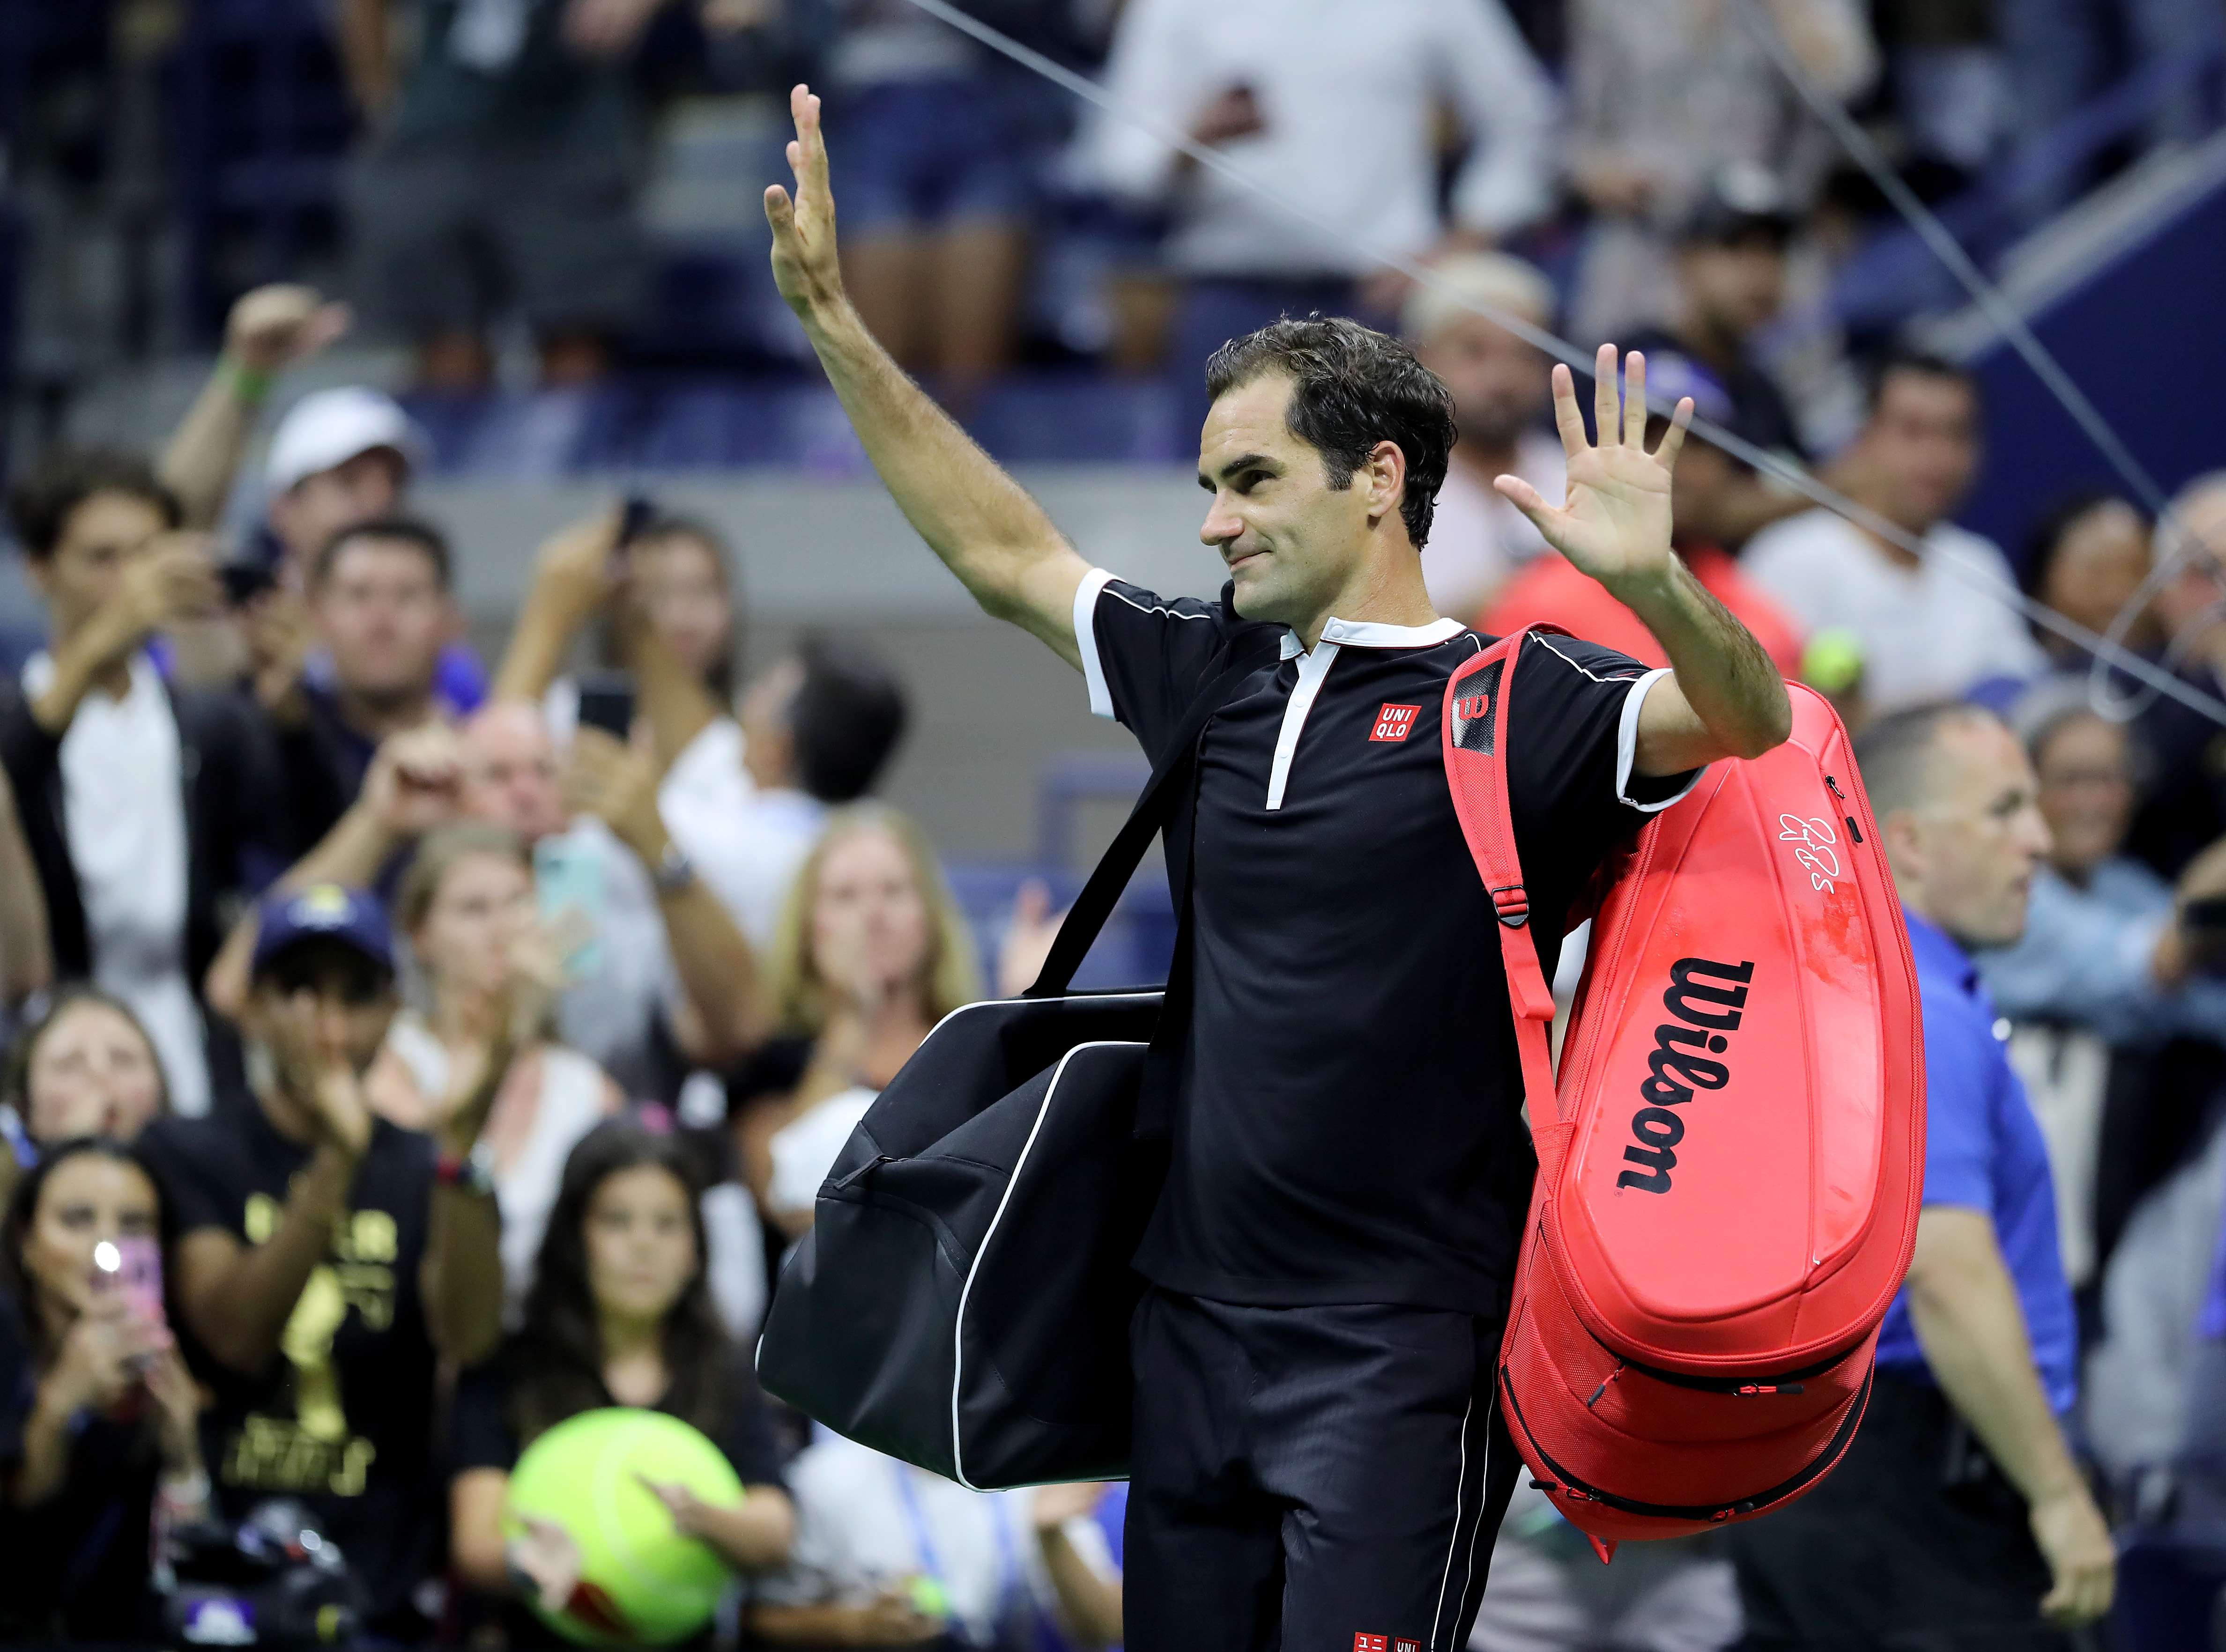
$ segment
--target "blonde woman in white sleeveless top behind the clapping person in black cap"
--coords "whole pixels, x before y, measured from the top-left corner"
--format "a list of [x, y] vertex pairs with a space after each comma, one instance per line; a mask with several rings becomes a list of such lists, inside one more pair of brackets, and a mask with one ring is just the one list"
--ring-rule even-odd
[[565, 940], [536, 917], [532, 855], [516, 833], [479, 822], [427, 833], [396, 891], [394, 926], [410, 940], [418, 1006], [394, 1017], [367, 1093], [394, 1124], [432, 1129], [476, 1089], [485, 1062], [508, 1064], [470, 1169], [487, 1178], [503, 1216], [514, 1318], [565, 1156], [626, 1095], [550, 1038]]

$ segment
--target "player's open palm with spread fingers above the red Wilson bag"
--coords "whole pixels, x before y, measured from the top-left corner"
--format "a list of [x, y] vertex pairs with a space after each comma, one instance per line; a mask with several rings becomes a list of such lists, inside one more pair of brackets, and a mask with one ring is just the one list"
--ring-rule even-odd
[[1616, 347], [1600, 345], [1594, 363], [1594, 423], [1600, 441], [1585, 441], [1576, 410], [1576, 378], [1554, 367], [1554, 423], [1569, 456], [1569, 494], [1560, 510], [1520, 476], [1491, 485], [1536, 523], [1547, 543], [1612, 592], [1647, 586], [1670, 574], [1670, 472], [1685, 445], [1692, 396], [1670, 419], [1661, 448], [1647, 452], [1647, 358], [1636, 350], [1623, 363], [1618, 407]]

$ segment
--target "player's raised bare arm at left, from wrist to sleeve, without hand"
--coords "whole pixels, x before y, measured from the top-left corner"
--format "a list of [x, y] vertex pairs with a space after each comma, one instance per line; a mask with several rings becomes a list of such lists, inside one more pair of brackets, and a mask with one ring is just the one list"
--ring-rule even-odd
[[986, 612], [1080, 663], [1071, 606], [1089, 566], [1044, 508], [906, 378], [848, 301], [806, 332], [906, 521]]

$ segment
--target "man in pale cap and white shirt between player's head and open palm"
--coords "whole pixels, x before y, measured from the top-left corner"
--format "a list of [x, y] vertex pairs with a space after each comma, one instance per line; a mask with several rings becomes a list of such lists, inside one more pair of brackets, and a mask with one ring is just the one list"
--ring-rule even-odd
[[1567, 461], [1547, 430], [1547, 370], [1536, 347], [1469, 305], [1505, 309], [1534, 327], [1554, 325], [1554, 285], [1503, 252], [1440, 260], [1436, 287], [1416, 287], [1400, 334], [1416, 358], [1454, 392], [1454, 461], [1438, 488], [1438, 517], [1422, 548], [1422, 581], [1440, 614], [1474, 619], [1494, 592], [1545, 550], [1529, 517], [1491, 488], [1520, 476], [1543, 499], [1560, 499]]

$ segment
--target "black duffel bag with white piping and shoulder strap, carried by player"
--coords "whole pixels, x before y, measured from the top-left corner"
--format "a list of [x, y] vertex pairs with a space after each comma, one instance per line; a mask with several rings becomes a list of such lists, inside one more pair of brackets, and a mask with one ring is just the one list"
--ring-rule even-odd
[[1166, 1173], [1186, 830], [1169, 844], [1175, 986], [1068, 982], [1153, 835], [1189, 819], [1213, 710], [1273, 659], [1244, 652], [1169, 739], [1035, 984], [951, 1011], [819, 1187], [812, 1231], [781, 1265], [757, 1376], [837, 1434], [984, 1492], [1126, 1476], [1142, 1291], [1129, 1258]]

